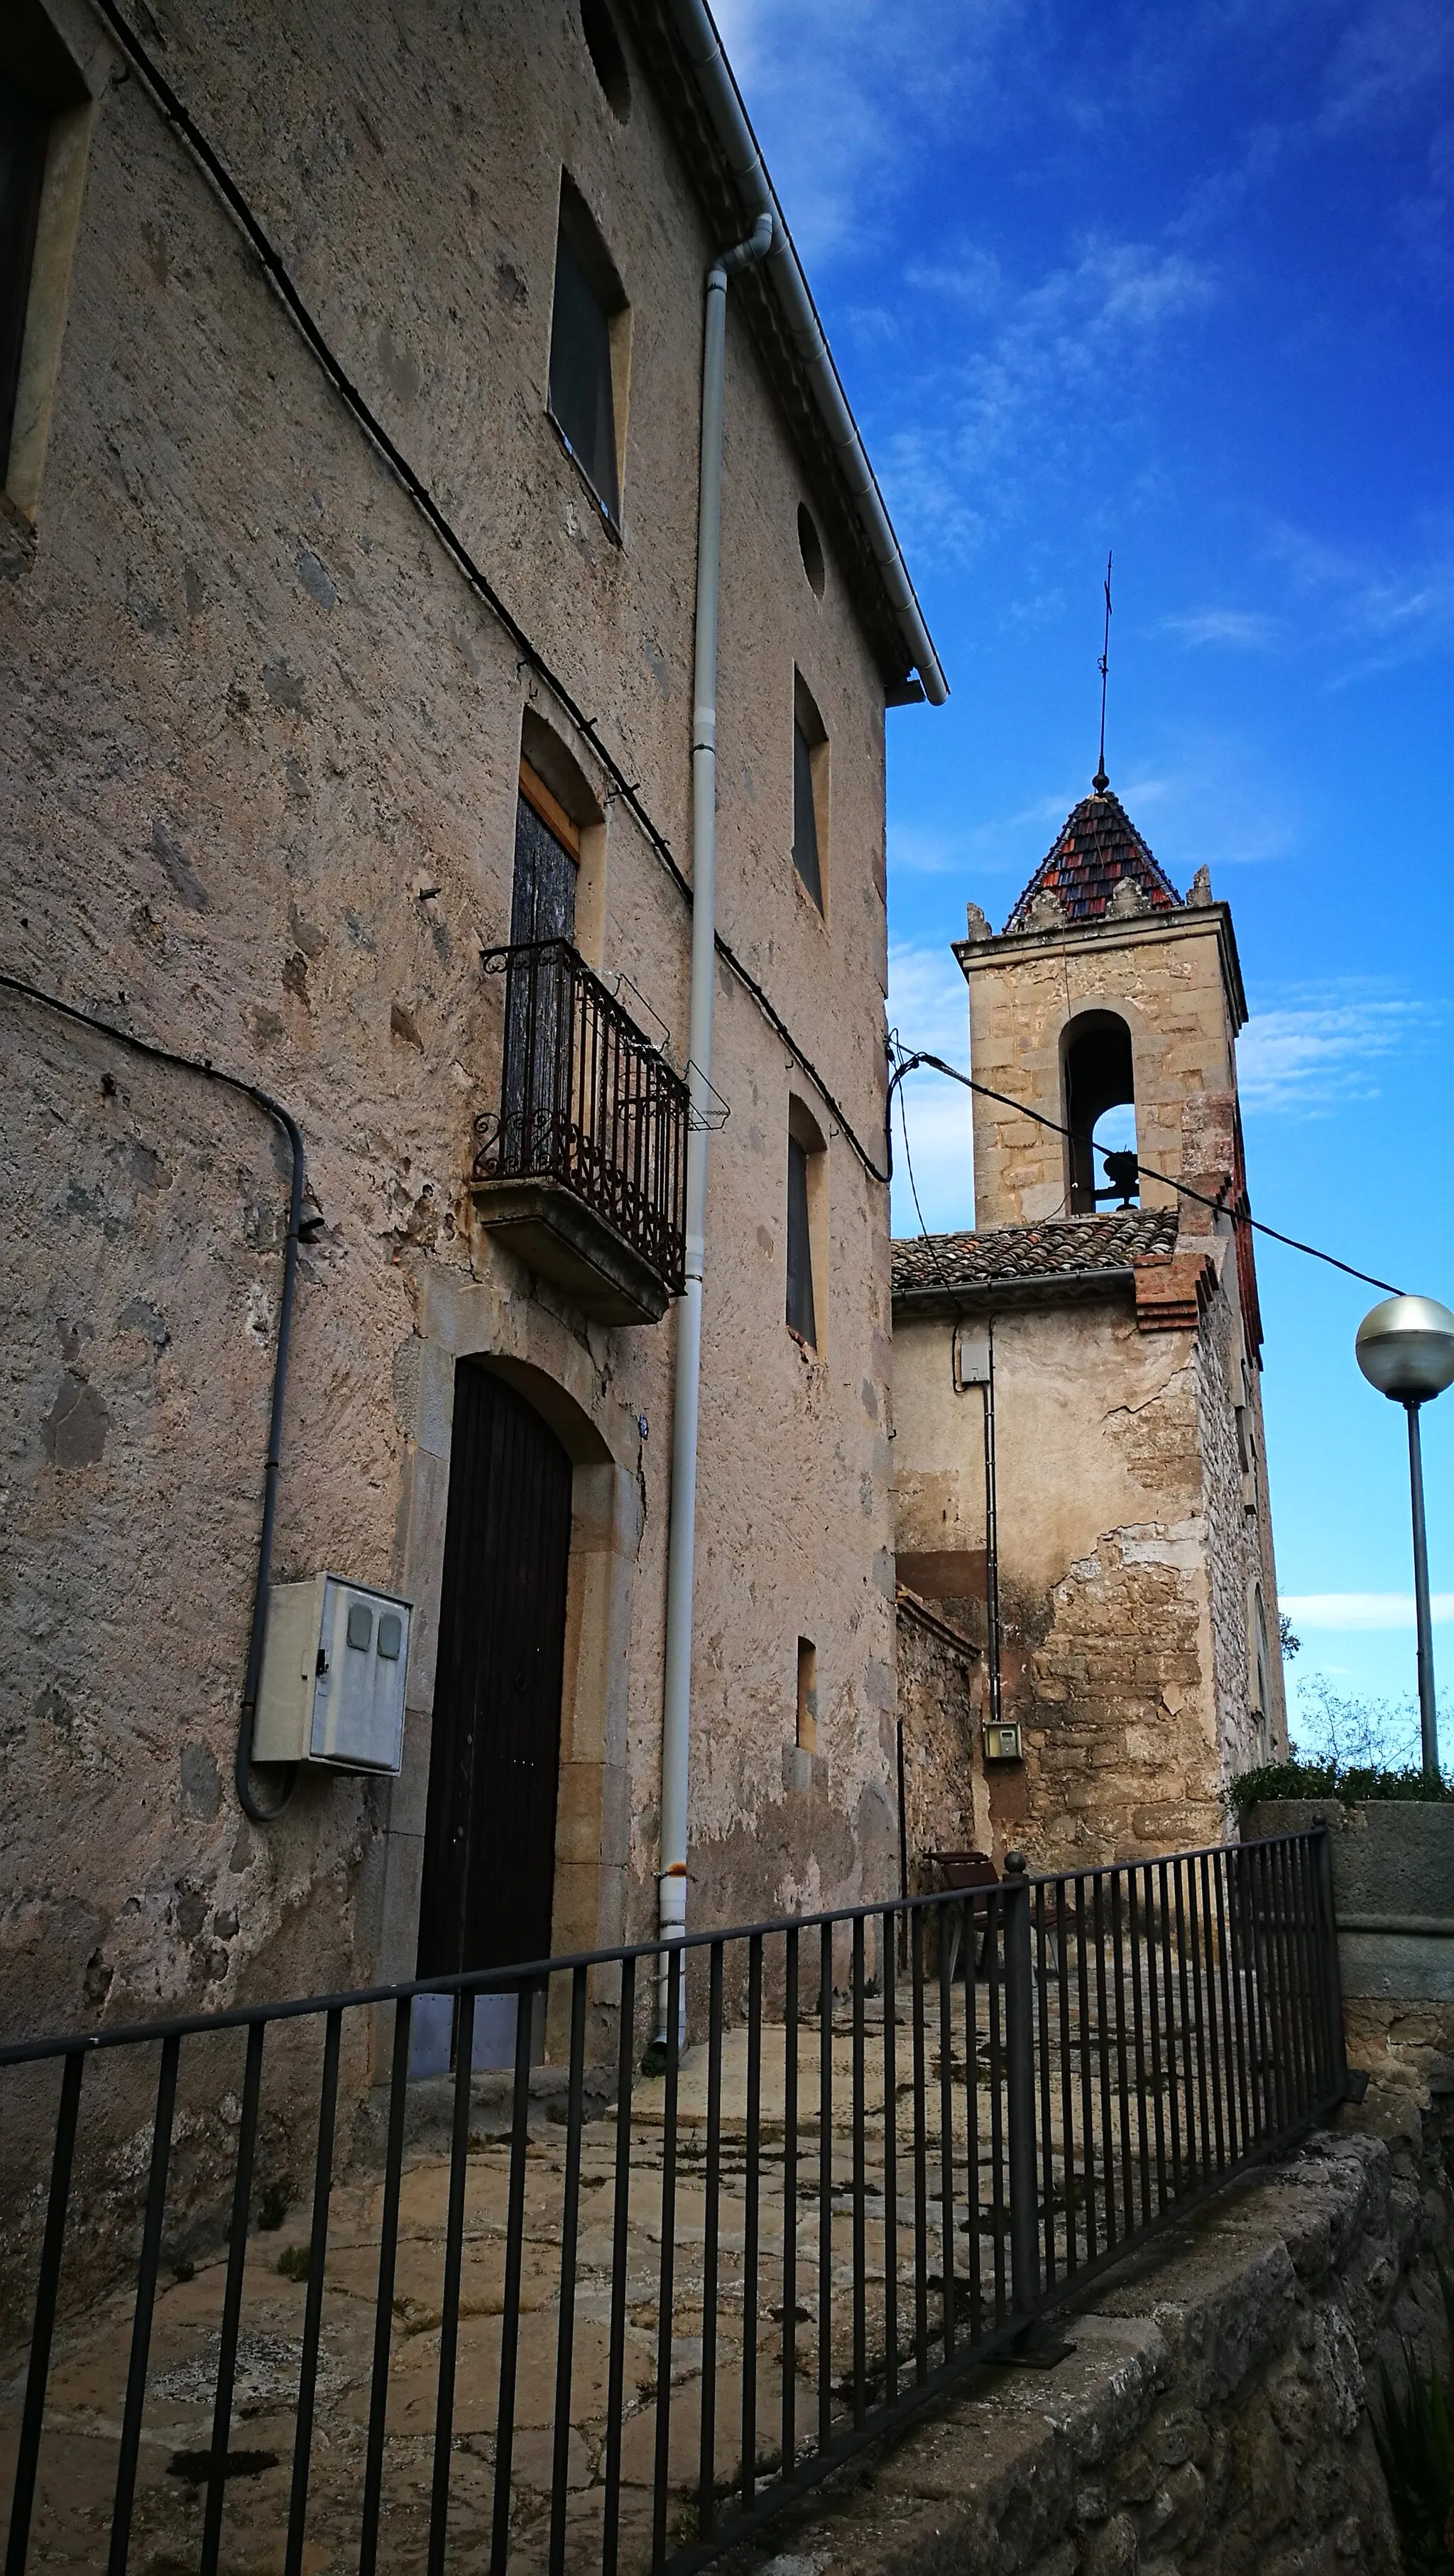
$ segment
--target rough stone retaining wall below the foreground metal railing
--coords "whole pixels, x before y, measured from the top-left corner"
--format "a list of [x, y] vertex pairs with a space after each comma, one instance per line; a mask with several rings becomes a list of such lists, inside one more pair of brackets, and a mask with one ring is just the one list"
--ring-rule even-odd
[[1109, 2275], [1052, 2370], [980, 2370], [843, 2473], [781, 2576], [1400, 2576], [1369, 2424], [1408, 2336], [1444, 2362], [1439, 2138], [1317, 2136]]

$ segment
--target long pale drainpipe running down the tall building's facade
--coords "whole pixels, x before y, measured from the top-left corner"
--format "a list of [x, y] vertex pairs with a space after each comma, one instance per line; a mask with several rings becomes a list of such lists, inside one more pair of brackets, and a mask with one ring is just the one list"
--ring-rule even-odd
[[[706, 1110], [712, 1108], [712, 989], [717, 976], [717, 595], [722, 569], [722, 374], [727, 278], [773, 247], [761, 214], [745, 242], [706, 270], [701, 348], [701, 484], [696, 505], [696, 672], [691, 683], [691, 1030], [696, 1110], [686, 1139], [686, 1296], [675, 1309], [670, 1419], [668, 1620], [663, 1695], [660, 1937], [686, 1932], [686, 1783], [691, 1765], [691, 1582], [696, 1561], [696, 1414], [701, 1396], [701, 1273], [706, 1267]], [[681, 1981], [678, 2035], [686, 2025]], [[668, 2027], [668, 1963], [657, 1978], [657, 2038]]]

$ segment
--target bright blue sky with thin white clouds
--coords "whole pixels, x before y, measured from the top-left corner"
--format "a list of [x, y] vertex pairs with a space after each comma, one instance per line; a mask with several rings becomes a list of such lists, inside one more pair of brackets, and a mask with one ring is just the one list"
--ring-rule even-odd
[[[1253, 1208], [1454, 1303], [1454, 10], [719, 21], [954, 690], [889, 719], [905, 1038], [964, 1061], [964, 902], [1000, 925], [1085, 793], [1114, 546], [1111, 783], [1235, 907]], [[918, 1077], [910, 1141], [928, 1221], [967, 1224], [962, 1097]], [[1374, 1293], [1268, 1244], [1261, 1285], [1294, 1674], [1397, 1703]], [[1426, 1473], [1454, 1739], [1454, 1391]]]

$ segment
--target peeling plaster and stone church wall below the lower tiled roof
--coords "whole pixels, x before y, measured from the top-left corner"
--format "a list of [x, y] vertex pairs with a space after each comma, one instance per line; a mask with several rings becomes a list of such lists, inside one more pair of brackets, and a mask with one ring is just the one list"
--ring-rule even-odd
[[[990, 1770], [995, 1839], [1044, 1868], [1214, 1842], [1266, 1528], [1243, 1504], [1237, 1316], [1217, 1296], [1196, 1334], [1142, 1334], [1101, 1296], [1003, 1311], [993, 1337], [1003, 1710], [1026, 1747]], [[951, 1391], [949, 1345], [949, 1319], [900, 1314], [900, 1574], [982, 1638], [982, 1399]]]

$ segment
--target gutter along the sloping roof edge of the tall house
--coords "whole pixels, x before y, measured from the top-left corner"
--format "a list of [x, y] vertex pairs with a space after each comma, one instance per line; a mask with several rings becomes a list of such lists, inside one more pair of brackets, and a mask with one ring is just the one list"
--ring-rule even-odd
[[833, 366], [833, 353], [822, 335], [822, 322], [817, 319], [817, 307], [802, 273], [802, 260], [791, 245], [773, 183], [763, 167], [758, 137], [748, 124], [748, 111], [727, 54], [722, 52], [722, 39], [712, 23], [712, 10], [706, 8], [706, 0], [665, 0], [665, 5], [683, 44], [691, 77], [696, 80], [712, 129], [727, 155], [727, 167], [732, 170], [748, 219], [755, 222], [761, 214], [771, 214], [773, 219], [773, 247], [763, 260], [763, 268], [773, 281], [791, 343], [807, 381], [812, 384], [817, 410], [822, 412], [822, 422], [838, 459], [838, 471], [853, 497], [853, 510], [858, 513], [858, 523], [869, 538], [869, 551], [897, 613], [902, 639], [923, 683], [923, 693], [931, 706], [944, 706], [949, 698], [949, 680], [938, 667], [938, 654], [931, 644], [928, 626], [923, 623], [923, 611], [915, 600], [900, 541], [889, 526], [884, 497], [864, 453], [864, 440], [858, 438], [858, 425], [848, 410], [848, 397], [838, 381], [838, 368]]

